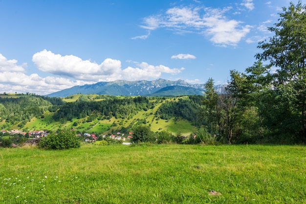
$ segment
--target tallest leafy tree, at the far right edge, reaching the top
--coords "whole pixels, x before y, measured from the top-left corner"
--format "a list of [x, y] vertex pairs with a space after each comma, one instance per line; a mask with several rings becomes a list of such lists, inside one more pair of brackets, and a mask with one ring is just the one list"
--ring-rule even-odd
[[268, 29], [274, 33], [269, 41], [262, 41], [256, 55], [258, 60], [269, 61], [270, 66], [279, 69], [274, 74], [274, 90], [281, 97], [276, 107], [287, 108], [290, 112], [280, 118], [284, 131], [299, 135], [298, 140], [306, 141], [306, 5], [299, 0], [292, 2], [279, 14], [280, 19]]

